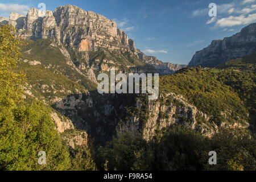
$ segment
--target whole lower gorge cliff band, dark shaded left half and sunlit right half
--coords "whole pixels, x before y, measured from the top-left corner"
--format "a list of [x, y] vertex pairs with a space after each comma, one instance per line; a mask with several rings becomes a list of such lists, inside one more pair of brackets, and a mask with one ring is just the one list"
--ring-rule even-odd
[[246, 129], [247, 121], [238, 119], [214, 123], [213, 115], [208, 115], [190, 104], [183, 96], [175, 93], [162, 93], [158, 100], [147, 100], [146, 95], [95, 93], [68, 96], [56, 102], [56, 110], [71, 118], [76, 128], [86, 131], [96, 142], [105, 143], [113, 135], [129, 131], [151, 140], [156, 134], [176, 124], [182, 124], [202, 135], [212, 137], [221, 128]]

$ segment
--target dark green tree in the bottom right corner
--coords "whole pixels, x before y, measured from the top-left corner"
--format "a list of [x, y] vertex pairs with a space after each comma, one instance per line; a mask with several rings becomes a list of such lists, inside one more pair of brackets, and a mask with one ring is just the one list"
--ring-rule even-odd
[[204, 156], [205, 169], [228, 171], [255, 171], [256, 141], [241, 129], [225, 129], [211, 138], [211, 151], [217, 153], [217, 165], [209, 165]]

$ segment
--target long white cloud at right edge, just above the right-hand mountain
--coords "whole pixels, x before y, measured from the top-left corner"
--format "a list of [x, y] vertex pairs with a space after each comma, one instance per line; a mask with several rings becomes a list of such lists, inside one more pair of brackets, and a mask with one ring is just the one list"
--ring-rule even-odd
[[253, 23], [256, 20], [256, 14], [229, 16], [228, 18], [221, 18], [217, 20], [215, 27], [233, 27], [242, 24]]

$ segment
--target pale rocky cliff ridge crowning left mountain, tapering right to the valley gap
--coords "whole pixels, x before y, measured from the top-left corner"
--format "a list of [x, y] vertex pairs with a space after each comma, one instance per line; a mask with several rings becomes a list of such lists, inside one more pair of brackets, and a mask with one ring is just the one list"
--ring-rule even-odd
[[[46, 11], [45, 16], [38, 9], [29, 9], [26, 16], [11, 13], [10, 19], [0, 18], [0, 22], [7, 22], [17, 29], [17, 33], [24, 38], [37, 40], [53, 38], [65, 48], [78, 50], [82, 58], [89, 62], [89, 53], [101, 48], [115, 52], [130, 52], [132, 56], [143, 63], [156, 68], [160, 75], [174, 73], [184, 65], [155, 63], [152, 56], [146, 56], [135, 47], [133, 39], [117, 28], [117, 23], [92, 11], [85, 11], [77, 6], [65, 5]], [[143, 56], [141, 56], [143, 54]], [[156, 58], [155, 58], [156, 59]], [[113, 60], [111, 60], [113, 61]], [[115, 61], [113, 61], [115, 62]], [[133, 67], [129, 65], [129, 67]], [[88, 66], [88, 69], [93, 69]]]

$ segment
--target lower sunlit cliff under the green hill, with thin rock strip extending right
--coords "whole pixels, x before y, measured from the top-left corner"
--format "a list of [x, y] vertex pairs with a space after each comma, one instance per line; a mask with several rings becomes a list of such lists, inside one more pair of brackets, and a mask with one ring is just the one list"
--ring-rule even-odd
[[130, 115], [126, 122], [118, 123], [117, 133], [123, 131], [129, 131], [134, 135], [142, 133], [144, 139], [151, 140], [158, 131], [178, 123], [197, 130], [207, 137], [212, 137], [221, 128], [249, 127], [246, 121], [223, 122], [217, 125], [211, 121], [213, 116], [203, 113], [196, 106], [189, 104], [183, 96], [175, 93], [161, 94], [158, 100], [148, 101], [147, 105], [144, 105], [144, 101], [139, 98], [135, 108], [137, 108], [135, 113]]

